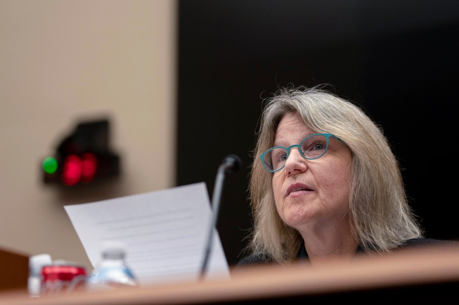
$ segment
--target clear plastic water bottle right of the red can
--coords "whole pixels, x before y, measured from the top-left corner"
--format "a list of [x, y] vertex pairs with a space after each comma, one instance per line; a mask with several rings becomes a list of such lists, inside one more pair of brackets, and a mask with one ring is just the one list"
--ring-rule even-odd
[[126, 252], [126, 244], [124, 242], [104, 242], [102, 244], [101, 260], [88, 277], [88, 290], [138, 286], [134, 274], [126, 264]]

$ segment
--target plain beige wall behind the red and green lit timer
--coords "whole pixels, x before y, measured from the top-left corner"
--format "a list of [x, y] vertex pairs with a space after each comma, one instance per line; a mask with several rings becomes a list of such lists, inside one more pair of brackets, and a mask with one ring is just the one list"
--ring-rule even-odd
[[[174, 186], [176, 19], [174, 0], [0, 0], [0, 247], [92, 268], [63, 206]], [[44, 185], [42, 158], [102, 115], [122, 176]]]

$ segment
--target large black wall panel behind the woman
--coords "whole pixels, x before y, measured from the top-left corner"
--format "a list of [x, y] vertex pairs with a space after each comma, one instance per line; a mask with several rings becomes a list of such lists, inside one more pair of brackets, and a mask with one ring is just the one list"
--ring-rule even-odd
[[226, 176], [218, 230], [230, 265], [251, 226], [248, 175], [262, 98], [328, 83], [380, 123], [427, 235], [459, 239], [459, 3], [179, 1], [177, 185]]

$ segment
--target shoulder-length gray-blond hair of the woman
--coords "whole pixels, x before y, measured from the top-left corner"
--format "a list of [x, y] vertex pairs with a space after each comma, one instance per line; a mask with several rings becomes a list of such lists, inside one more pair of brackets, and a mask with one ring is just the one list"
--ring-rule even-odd
[[297, 114], [311, 132], [341, 138], [351, 151], [350, 227], [366, 252], [390, 252], [423, 234], [408, 206], [399, 164], [382, 128], [361, 108], [323, 88], [279, 89], [266, 99], [261, 115], [250, 173], [253, 230], [247, 249], [276, 262], [295, 259], [303, 239], [278, 215], [273, 174], [264, 170], [259, 156], [273, 146], [279, 121], [288, 113]]

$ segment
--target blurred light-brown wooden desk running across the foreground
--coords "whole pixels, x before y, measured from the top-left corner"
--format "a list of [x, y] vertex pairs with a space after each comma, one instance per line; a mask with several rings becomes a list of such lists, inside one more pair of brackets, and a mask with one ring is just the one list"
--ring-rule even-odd
[[204, 304], [270, 300], [401, 303], [454, 300], [459, 292], [459, 250], [357, 257], [349, 265], [263, 266], [232, 270], [231, 279], [182, 282], [109, 292], [79, 292], [30, 299], [25, 291], [0, 294], [0, 304]]

